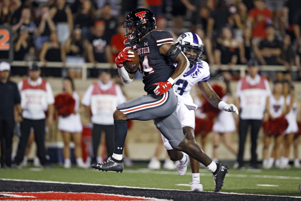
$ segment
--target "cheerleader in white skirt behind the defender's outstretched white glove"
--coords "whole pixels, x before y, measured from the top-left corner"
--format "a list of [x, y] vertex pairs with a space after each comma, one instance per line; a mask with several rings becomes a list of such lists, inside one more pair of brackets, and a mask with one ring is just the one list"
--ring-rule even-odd
[[[226, 103], [232, 103], [233, 99], [231, 96], [231, 92], [229, 89], [229, 81], [228, 82], [220, 82], [219, 85], [223, 89], [223, 97], [221, 97], [222, 101]], [[220, 111], [219, 115], [214, 122], [213, 128], [213, 161], [218, 161], [218, 147], [219, 147], [219, 137], [220, 135], [223, 138], [224, 144], [226, 148], [235, 156], [237, 155], [237, 150], [234, 148], [231, 139], [232, 133], [236, 130], [235, 120], [233, 117], [233, 113]]]

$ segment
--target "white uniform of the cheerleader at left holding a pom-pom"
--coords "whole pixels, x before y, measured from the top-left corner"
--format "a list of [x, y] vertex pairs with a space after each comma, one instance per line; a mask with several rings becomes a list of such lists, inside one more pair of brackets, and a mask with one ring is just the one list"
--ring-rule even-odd
[[71, 114], [67, 117], [59, 116], [58, 129], [69, 133], [81, 133], [82, 122], [81, 116], [77, 112], [79, 109], [79, 96], [76, 91], [73, 91], [72, 97], [75, 100], [74, 111], [76, 114]]

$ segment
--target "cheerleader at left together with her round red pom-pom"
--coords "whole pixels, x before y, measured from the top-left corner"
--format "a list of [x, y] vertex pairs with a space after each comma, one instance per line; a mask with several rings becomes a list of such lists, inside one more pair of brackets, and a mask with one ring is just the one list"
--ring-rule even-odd
[[[73, 99], [72, 99], [73, 98]], [[72, 104], [73, 103], [73, 104]], [[79, 97], [70, 77], [63, 79], [63, 93], [55, 97], [55, 108], [59, 114], [58, 129], [64, 141], [64, 168], [71, 167], [70, 147], [71, 138], [75, 144], [75, 157], [78, 167], [86, 168], [82, 160], [82, 122], [79, 113]]]

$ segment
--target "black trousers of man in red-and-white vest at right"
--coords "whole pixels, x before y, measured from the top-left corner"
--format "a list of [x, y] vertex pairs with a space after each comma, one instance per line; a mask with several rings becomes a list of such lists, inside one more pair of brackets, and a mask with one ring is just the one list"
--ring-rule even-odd
[[239, 150], [237, 155], [237, 161], [240, 166], [244, 165], [243, 157], [246, 143], [246, 136], [248, 132], [248, 127], [251, 125], [251, 166], [257, 165], [257, 138], [258, 132], [261, 126], [261, 120], [254, 119], [240, 119], [239, 121]]

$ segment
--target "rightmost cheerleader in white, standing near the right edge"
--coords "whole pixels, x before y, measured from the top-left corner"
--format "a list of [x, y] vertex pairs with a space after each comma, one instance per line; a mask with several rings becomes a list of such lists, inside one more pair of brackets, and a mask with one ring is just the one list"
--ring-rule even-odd
[[281, 168], [289, 168], [289, 153], [290, 147], [293, 142], [295, 133], [298, 132], [297, 124], [297, 103], [295, 102], [295, 96], [293, 93], [292, 85], [285, 81], [283, 82], [283, 96], [286, 98], [287, 114], [285, 115], [288, 121], [288, 128], [284, 131], [284, 152], [281, 157]]

